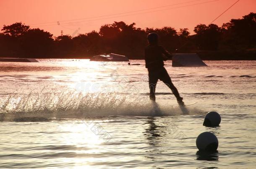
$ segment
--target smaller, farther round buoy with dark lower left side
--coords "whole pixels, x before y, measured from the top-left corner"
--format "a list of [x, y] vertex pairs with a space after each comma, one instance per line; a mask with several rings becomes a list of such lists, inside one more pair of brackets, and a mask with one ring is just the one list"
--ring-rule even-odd
[[215, 111], [208, 112], [204, 117], [204, 126], [215, 127], [219, 126], [221, 121], [220, 115]]

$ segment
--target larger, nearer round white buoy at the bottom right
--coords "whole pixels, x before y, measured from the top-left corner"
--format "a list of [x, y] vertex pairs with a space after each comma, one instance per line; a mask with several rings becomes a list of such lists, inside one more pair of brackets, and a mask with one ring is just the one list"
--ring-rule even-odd
[[196, 138], [196, 147], [200, 151], [216, 151], [219, 146], [217, 137], [211, 132], [199, 134]]

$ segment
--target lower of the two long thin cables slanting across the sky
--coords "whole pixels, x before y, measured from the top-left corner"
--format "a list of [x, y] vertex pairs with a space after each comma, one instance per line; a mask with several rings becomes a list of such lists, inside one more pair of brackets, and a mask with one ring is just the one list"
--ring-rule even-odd
[[[211, 0], [211, 1], [203, 2], [203, 3], [196, 3], [196, 4], [191, 4], [191, 5], [184, 5], [184, 6], [180, 6], [180, 7], [167, 8], [167, 9], [162, 9], [162, 10], [148, 11], [148, 12], [144, 12], [144, 13], [135, 13], [135, 14], [130, 14], [130, 15], [121, 15], [121, 16], [115, 16], [115, 17], [109, 17], [109, 18], [100, 18], [100, 19], [95, 19], [95, 20], [82, 20], [82, 21], [69, 22], [69, 23], [62, 23], [62, 24], [81, 23], [81, 22], [89, 22], [89, 21], [96, 21], [96, 20], [111, 19], [111, 18], [120, 18], [120, 17], [132, 16], [132, 15], [139, 15], [139, 14], [145, 14], [145, 13], [154, 13], [154, 12], [160, 12], [160, 11], [163, 11], [163, 10], [170, 10], [170, 9], [183, 8], [183, 7], [188, 7], [188, 6], [200, 5], [200, 4], [204, 4], [204, 3], [211, 3], [211, 2], [215, 2], [215, 1], [219, 1], [219, 0]], [[56, 24], [40, 25], [40, 26], [52, 26], [52, 25], [56, 25]]]

